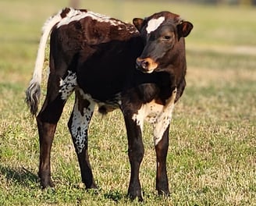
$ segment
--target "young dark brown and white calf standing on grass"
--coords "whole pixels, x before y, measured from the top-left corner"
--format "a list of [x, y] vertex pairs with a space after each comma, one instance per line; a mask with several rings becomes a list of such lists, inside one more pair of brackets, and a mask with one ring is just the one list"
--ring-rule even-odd
[[[134, 26], [133, 26], [134, 24]], [[53, 186], [50, 153], [62, 109], [75, 91], [69, 131], [76, 148], [82, 181], [96, 188], [87, 152], [87, 130], [98, 105], [101, 113], [120, 108], [126, 123], [130, 159], [131, 199], [142, 201], [139, 180], [144, 155], [144, 120], [154, 128], [157, 159], [156, 189], [169, 194], [166, 155], [169, 124], [185, 87], [184, 37], [193, 25], [171, 12], [123, 23], [85, 9], [63, 9], [45, 24], [38, 48], [27, 104], [37, 114], [44, 49], [50, 40], [50, 73], [44, 105], [37, 115], [41, 186]]]

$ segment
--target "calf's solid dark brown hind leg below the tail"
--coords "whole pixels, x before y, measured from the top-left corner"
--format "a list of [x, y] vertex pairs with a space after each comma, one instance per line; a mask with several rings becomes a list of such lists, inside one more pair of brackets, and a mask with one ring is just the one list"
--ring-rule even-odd
[[57, 123], [62, 115], [63, 107], [66, 103], [66, 100], [63, 100], [59, 94], [59, 85], [55, 85], [55, 83], [58, 82], [59, 77], [50, 74], [48, 80], [48, 92], [44, 100], [44, 105], [37, 115], [37, 128], [40, 144], [38, 176], [41, 179], [41, 186], [43, 188], [53, 186], [50, 162], [52, 140], [55, 135]]

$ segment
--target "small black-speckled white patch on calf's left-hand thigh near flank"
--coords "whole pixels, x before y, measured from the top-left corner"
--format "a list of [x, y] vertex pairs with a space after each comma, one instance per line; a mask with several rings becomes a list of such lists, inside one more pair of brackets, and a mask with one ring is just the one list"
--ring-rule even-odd
[[61, 93], [62, 100], [67, 100], [69, 96], [73, 93], [76, 86], [76, 73], [68, 71], [68, 75], [65, 77], [65, 79], [60, 79], [59, 81], [59, 93]]

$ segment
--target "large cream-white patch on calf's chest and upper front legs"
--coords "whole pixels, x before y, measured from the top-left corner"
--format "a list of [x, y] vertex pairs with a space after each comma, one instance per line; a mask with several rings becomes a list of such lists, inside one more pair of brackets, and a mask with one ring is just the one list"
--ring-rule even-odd
[[155, 145], [162, 140], [162, 135], [169, 126], [172, 119], [172, 111], [176, 98], [176, 89], [172, 91], [172, 96], [166, 101], [166, 105], [159, 105], [155, 101], [142, 105], [137, 114], [133, 114], [133, 121], [143, 130], [144, 119], [153, 126]]

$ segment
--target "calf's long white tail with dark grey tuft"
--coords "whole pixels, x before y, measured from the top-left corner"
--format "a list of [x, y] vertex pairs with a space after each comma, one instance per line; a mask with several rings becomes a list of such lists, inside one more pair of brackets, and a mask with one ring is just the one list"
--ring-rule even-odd
[[46, 43], [48, 41], [48, 36], [52, 31], [52, 27], [55, 26], [56, 23], [62, 20], [61, 13], [59, 12], [55, 16], [49, 18], [45, 23], [42, 29], [41, 40], [39, 43], [39, 48], [37, 51], [37, 60], [34, 66], [34, 74], [32, 80], [30, 80], [29, 87], [27, 87], [26, 98], [27, 106], [30, 108], [30, 112], [32, 115], [37, 114], [38, 104], [40, 101], [41, 95], [41, 79], [42, 79], [42, 70], [44, 66], [44, 54]]

